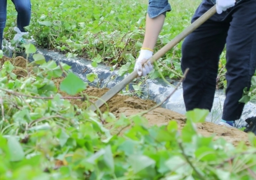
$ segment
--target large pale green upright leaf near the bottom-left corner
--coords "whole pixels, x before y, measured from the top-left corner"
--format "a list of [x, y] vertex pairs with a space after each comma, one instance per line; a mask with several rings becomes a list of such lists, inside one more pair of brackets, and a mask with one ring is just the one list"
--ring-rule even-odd
[[8, 138], [7, 145], [10, 152], [10, 161], [21, 161], [24, 159], [25, 153], [21, 147], [21, 144], [15, 137], [10, 136]]

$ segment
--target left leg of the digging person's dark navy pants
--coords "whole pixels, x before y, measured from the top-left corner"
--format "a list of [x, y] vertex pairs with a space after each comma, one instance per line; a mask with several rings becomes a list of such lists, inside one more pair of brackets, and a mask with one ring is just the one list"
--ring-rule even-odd
[[[203, 15], [214, 4], [203, 0], [196, 10], [192, 22]], [[182, 44], [181, 67], [184, 73], [189, 68], [183, 82], [183, 97], [186, 110], [208, 109], [213, 106], [218, 74], [219, 57], [224, 49], [229, 23], [222, 21], [227, 13], [215, 14]]]

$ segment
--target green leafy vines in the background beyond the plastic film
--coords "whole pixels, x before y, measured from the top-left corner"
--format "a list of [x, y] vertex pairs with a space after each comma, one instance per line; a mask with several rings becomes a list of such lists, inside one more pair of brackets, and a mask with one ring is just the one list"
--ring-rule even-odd
[[[95, 3], [98, 3], [95, 6]], [[196, 3], [200, 3], [199, 0]], [[32, 0], [33, 13], [30, 26], [26, 27], [38, 47], [53, 49], [67, 57], [83, 56], [92, 59], [92, 66], [105, 63], [119, 74], [131, 73], [145, 33], [147, 2], [141, 1], [80, 1]], [[190, 1], [173, 1], [173, 8], [166, 16], [155, 52], [190, 25], [196, 6]], [[93, 9], [89, 11], [88, 9]], [[10, 22], [5, 28], [5, 38], [12, 39], [16, 19], [14, 6], [8, 8]], [[125, 12], [125, 13], [124, 13]], [[128, 15], [129, 14], [129, 15]], [[158, 62], [164, 77], [179, 79], [181, 73], [182, 42], [167, 52]], [[170, 71], [172, 70], [172, 71]], [[176, 72], [173, 73], [173, 72]], [[156, 72], [150, 78], [160, 77]], [[90, 77], [91, 79], [93, 76]], [[222, 79], [221, 82], [222, 83]]]

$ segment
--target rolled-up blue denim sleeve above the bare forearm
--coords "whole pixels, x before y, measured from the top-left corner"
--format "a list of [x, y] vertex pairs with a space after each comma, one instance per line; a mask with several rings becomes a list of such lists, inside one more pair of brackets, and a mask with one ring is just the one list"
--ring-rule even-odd
[[171, 11], [168, 0], [149, 0], [148, 14], [150, 18], [157, 17], [160, 14], [166, 15], [167, 11]]

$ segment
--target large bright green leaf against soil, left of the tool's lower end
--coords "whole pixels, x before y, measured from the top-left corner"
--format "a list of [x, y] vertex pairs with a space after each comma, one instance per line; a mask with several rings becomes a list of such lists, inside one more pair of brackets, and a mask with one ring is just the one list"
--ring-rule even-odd
[[60, 90], [70, 95], [75, 95], [85, 89], [85, 82], [71, 72], [60, 84]]

